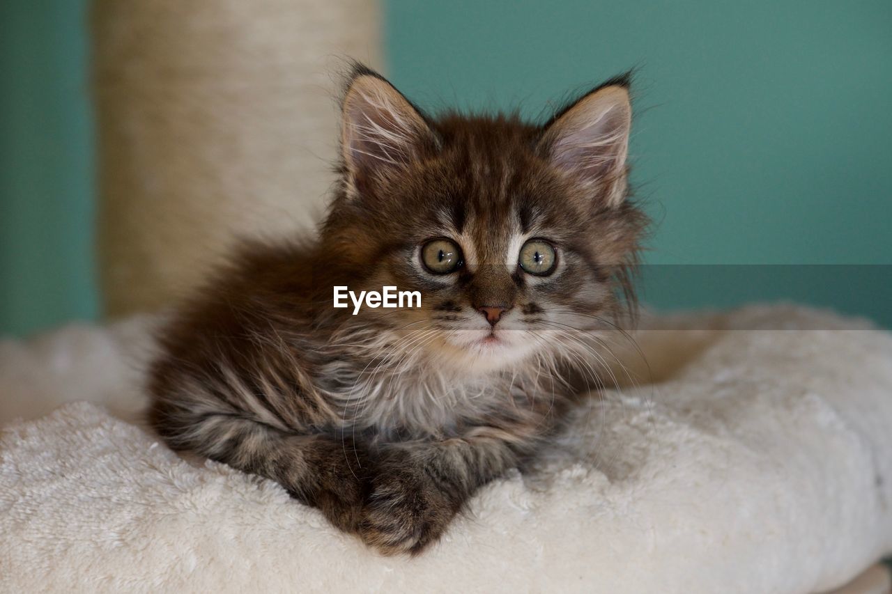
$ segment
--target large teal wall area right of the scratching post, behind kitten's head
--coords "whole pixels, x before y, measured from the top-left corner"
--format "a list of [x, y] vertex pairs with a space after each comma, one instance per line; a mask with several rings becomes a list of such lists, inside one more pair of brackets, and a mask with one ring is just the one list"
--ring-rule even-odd
[[392, 80], [425, 107], [536, 117], [637, 68], [648, 302], [892, 326], [892, 2], [391, 0], [385, 23]]

